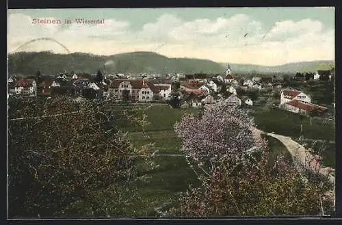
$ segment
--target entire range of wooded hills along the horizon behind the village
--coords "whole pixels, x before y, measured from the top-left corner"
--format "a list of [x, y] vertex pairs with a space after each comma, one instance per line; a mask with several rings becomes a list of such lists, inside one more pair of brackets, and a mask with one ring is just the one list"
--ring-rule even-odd
[[[172, 58], [153, 52], [120, 53], [116, 55], [92, 55], [88, 53], [55, 54], [51, 51], [20, 52], [8, 56], [10, 74], [33, 75], [38, 70], [45, 75], [59, 72], [96, 73], [105, 70], [113, 73], [170, 73], [170, 72], [204, 72], [224, 74], [226, 63], [217, 63], [208, 59]], [[254, 74], [274, 72], [295, 73], [315, 72], [328, 69], [333, 61], [313, 61], [284, 64], [281, 66], [259, 66], [252, 64], [230, 64], [233, 74]]]

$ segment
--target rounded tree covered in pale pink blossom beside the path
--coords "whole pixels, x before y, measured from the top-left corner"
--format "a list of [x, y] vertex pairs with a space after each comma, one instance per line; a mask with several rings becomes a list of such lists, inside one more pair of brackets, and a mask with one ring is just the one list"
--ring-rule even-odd
[[175, 131], [183, 142], [188, 158], [210, 171], [222, 157], [240, 157], [246, 150], [266, 144], [261, 137], [252, 135], [253, 120], [235, 105], [218, 103], [205, 105], [200, 118], [183, 116], [175, 124]]

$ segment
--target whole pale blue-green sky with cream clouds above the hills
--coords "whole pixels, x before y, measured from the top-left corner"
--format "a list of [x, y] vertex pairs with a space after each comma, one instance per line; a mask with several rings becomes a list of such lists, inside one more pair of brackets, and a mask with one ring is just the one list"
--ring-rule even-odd
[[[34, 18], [62, 24], [35, 24]], [[72, 21], [65, 24], [65, 19]], [[76, 18], [104, 19], [77, 24]], [[334, 8], [116, 8], [8, 10], [8, 53], [67, 51], [114, 55], [153, 51], [167, 57], [275, 66], [334, 60]], [[24, 44], [24, 45], [23, 45]], [[20, 48], [19, 48], [20, 47]]]

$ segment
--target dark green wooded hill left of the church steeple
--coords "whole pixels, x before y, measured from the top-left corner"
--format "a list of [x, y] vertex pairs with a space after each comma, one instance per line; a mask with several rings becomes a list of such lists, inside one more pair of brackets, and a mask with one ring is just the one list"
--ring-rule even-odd
[[10, 73], [23, 75], [34, 74], [38, 70], [43, 74], [55, 75], [64, 70], [95, 73], [99, 69], [114, 73], [224, 73], [220, 64], [207, 59], [170, 58], [153, 52], [109, 56], [87, 53], [55, 54], [49, 51], [21, 52], [9, 55], [8, 67]]

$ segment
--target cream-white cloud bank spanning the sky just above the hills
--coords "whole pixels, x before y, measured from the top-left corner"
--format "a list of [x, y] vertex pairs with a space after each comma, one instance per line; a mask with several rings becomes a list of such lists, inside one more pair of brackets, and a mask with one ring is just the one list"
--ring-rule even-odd
[[[112, 55], [129, 51], [155, 51], [169, 57], [198, 57], [216, 62], [275, 65], [334, 58], [334, 29], [317, 20], [279, 21], [266, 28], [247, 14], [196, 18], [186, 21], [163, 14], [134, 30], [127, 21], [108, 19], [104, 24], [33, 25], [25, 14], [10, 14], [8, 48], [27, 40], [53, 37], [71, 52]], [[36, 51], [56, 49], [54, 43], [37, 43]]]

